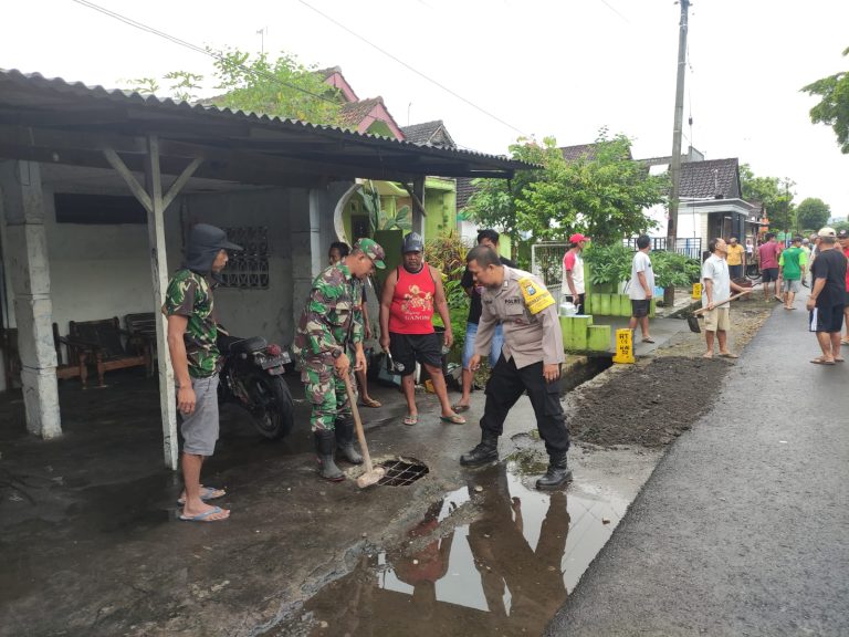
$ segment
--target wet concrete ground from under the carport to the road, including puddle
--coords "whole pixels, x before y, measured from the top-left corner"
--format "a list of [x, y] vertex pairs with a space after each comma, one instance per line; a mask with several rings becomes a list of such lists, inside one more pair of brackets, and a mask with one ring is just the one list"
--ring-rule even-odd
[[[260, 438], [241, 410], [222, 411], [221, 439], [203, 478], [228, 490], [219, 502], [233, 513], [227, 522], [186, 523], [176, 519], [178, 476], [163, 467], [155, 383], [133, 370], [109, 380], [102, 390], [63, 384], [65, 435], [49, 442], [25, 435], [20, 396], [0, 400], [0, 635], [286, 635], [286, 626], [321, 630], [323, 622], [325, 631], [316, 634], [331, 635], [340, 625], [318, 610], [321, 592], [350, 573], [373, 578], [364, 591], [397, 602], [386, 618], [401, 624], [386, 634], [415, 634], [407, 626], [413, 629], [407, 613], [413, 591], [376, 588], [374, 578], [388, 582], [389, 571], [398, 582], [411, 577], [405, 556], [416, 529], [427, 554], [433, 537], [439, 549], [446, 534], [454, 537], [446, 575], [433, 586], [436, 608], [450, 613], [442, 617], [433, 609], [432, 622], [448, 626], [450, 617], [476, 613], [485, 616], [478, 634], [489, 635], [507, 608], [542, 610], [525, 598], [544, 575], [556, 595], [538, 601], [545, 613], [534, 615], [534, 626], [542, 629], [658, 458], [576, 448], [575, 483], [565, 495], [541, 494], [533, 481], [544, 470], [542, 443], [527, 434], [534, 419], [526, 398], [501, 441], [502, 457], [513, 453], [515, 462], [479, 472], [462, 469], [458, 458], [480, 437], [483, 393], [473, 394], [465, 426], [441, 424], [436, 398], [420, 395], [419, 425], [405, 427], [399, 394], [376, 387], [386, 407], [361, 410], [374, 459], [402, 456], [429, 472], [403, 488], [331, 484], [316, 477], [295, 382], [297, 425], [282, 441]], [[468, 502], [460, 501], [463, 492]], [[439, 523], [422, 535], [439, 502]], [[497, 531], [479, 532], [484, 528]], [[523, 557], [507, 567], [501, 552], [511, 546]], [[492, 602], [493, 610], [484, 610], [482, 601]], [[384, 607], [373, 613], [382, 616]], [[521, 634], [514, 629], [505, 625], [501, 634]]]

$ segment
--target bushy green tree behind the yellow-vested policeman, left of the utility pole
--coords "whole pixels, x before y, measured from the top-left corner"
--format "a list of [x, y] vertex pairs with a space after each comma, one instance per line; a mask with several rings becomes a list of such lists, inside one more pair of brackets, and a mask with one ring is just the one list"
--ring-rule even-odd
[[644, 209], [663, 200], [665, 177], [651, 176], [630, 159], [630, 140], [601, 130], [594, 155], [566, 161], [554, 137], [543, 144], [520, 139], [512, 157], [541, 164], [518, 171], [511, 184], [476, 180], [480, 190], [469, 211], [480, 222], [503, 229], [511, 240], [530, 233], [537, 241], [584, 232], [600, 243], [644, 232], [651, 221]]

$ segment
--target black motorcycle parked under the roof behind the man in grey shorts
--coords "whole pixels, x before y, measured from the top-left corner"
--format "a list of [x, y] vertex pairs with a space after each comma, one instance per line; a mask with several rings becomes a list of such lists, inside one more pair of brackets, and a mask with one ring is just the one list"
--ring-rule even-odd
[[265, 438], [283, 438], [294, 425], [294, 404], [283, 379], [292, 356], [262, 336], [237, 338], [220, 334], [218, 348], [224, 359], [219, 375], [219, 403], [234, 403], [252, 417]]

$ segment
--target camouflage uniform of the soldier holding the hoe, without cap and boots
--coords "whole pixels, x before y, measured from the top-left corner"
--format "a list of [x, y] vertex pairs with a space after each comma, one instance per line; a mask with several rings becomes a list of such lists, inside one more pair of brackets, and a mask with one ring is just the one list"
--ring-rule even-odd
[[363, 283], [340, 261], [313, 281], [295, 335], [294, 352], [301, 359], [301, 380], [313, 406], [313, 431], [333, 431], [337, 418], [352, 417], [345, 382], [335, 373], [334, 349], [352, 359], [363, 342]]

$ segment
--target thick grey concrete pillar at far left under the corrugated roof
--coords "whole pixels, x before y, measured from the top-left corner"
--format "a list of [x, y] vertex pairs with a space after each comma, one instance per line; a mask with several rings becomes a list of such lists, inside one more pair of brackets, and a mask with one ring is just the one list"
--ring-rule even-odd
[[42, 438], [54, 438], [62, 434], [62, 426], [39, 164], [0, 164], [0, 190], [7, 231], [4, 259], [14, 294], [27, 428]]

